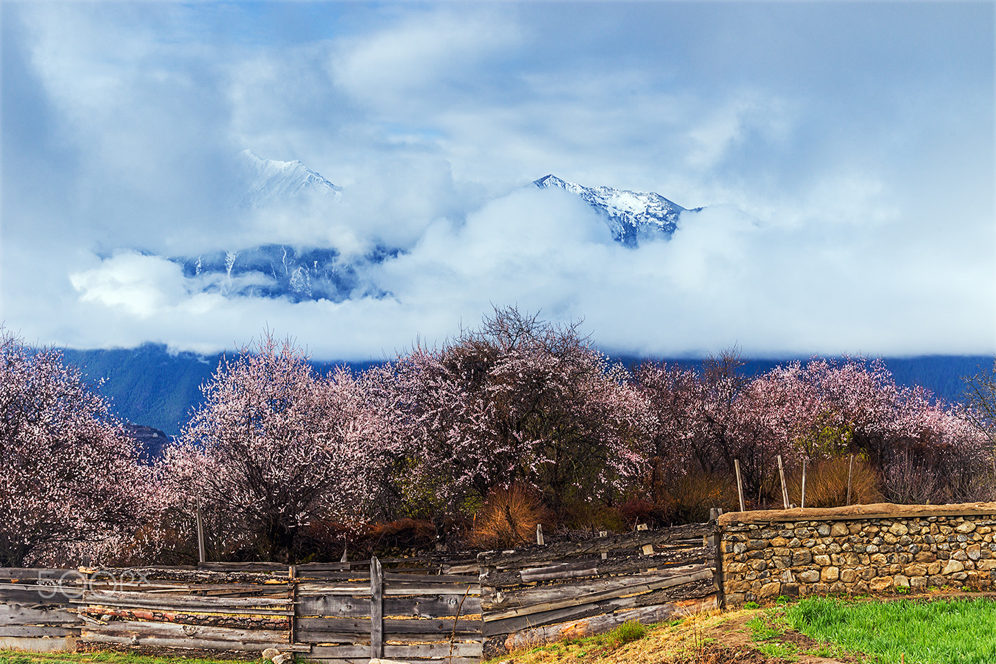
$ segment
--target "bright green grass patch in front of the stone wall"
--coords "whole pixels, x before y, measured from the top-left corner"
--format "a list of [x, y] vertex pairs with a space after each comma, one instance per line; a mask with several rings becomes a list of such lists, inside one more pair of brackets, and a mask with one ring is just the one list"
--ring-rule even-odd
[[996, 662], [996, 601], [900, 599], [887, 602], [810, 597], [784, 607], [795, 629], [883, 664]]

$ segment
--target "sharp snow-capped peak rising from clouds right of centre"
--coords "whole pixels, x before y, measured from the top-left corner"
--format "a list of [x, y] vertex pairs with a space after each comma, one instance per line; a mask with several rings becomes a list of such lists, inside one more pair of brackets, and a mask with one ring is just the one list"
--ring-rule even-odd
[[678, 227], [681, 213], [687, 211], [652, 191], [586, 187], [556, 175], [541, 177], [533, 184], [540, 189], [558, 187], [580, 196], [605, 218], [613, 237], [626, 247], [637, 246], [641, 239], [670, 238]]

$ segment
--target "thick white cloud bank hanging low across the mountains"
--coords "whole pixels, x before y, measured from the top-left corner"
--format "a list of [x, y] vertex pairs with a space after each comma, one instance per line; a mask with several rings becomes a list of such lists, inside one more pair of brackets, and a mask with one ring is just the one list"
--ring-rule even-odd
[[[465, 224], [430, 225], [408, 254], [376, 267], [371, 278], [386, 298], [225, 298], [203, 293], [172, 264], [133, 254], [73, 283], [84, 303], [114, 310], [131, 333], [147, 334], [137, 324], [152, 317], [163, 340], [217, 349], [265, 324], [323, 358], [389, 355], [416, 335], [441, 341], [490, 304], [584, 318], [600, 345], [626, 353], [734, 343], [760, 356], [991, 347], [996, 316], [978, 306], [993, 296], [991, 266], [948, 265], [937, 282], [922, 266], [879, 253], [879, 230], [784, 228], [718, 207], [683, 215], [669, 242], [628, 250], [570, 194], [520, 189]], [[964, 290], [951, 292], [952, 283]]]

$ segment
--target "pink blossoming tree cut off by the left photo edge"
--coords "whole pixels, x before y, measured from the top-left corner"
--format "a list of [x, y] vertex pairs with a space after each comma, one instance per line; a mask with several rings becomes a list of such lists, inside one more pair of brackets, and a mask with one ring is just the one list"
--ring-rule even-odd
[[0, 565], [96, 562], [127, 546], [149, 505], [138, 452], [59, 351], [0, 329]]

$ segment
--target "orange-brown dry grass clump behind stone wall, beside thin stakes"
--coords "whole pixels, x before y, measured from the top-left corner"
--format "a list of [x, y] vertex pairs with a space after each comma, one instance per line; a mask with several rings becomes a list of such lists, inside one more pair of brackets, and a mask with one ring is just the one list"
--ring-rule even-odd
[[[806, 469], [806, 507], [836, 508], [848, 504], [848, 468], [850, 457], [822, 459]], [[802, 473], [789, 480], [789, 500], [801, 505]], [[851, 478], [851, 504], [880, 503], [878, 474], [864, 456], [855, 457]]]

